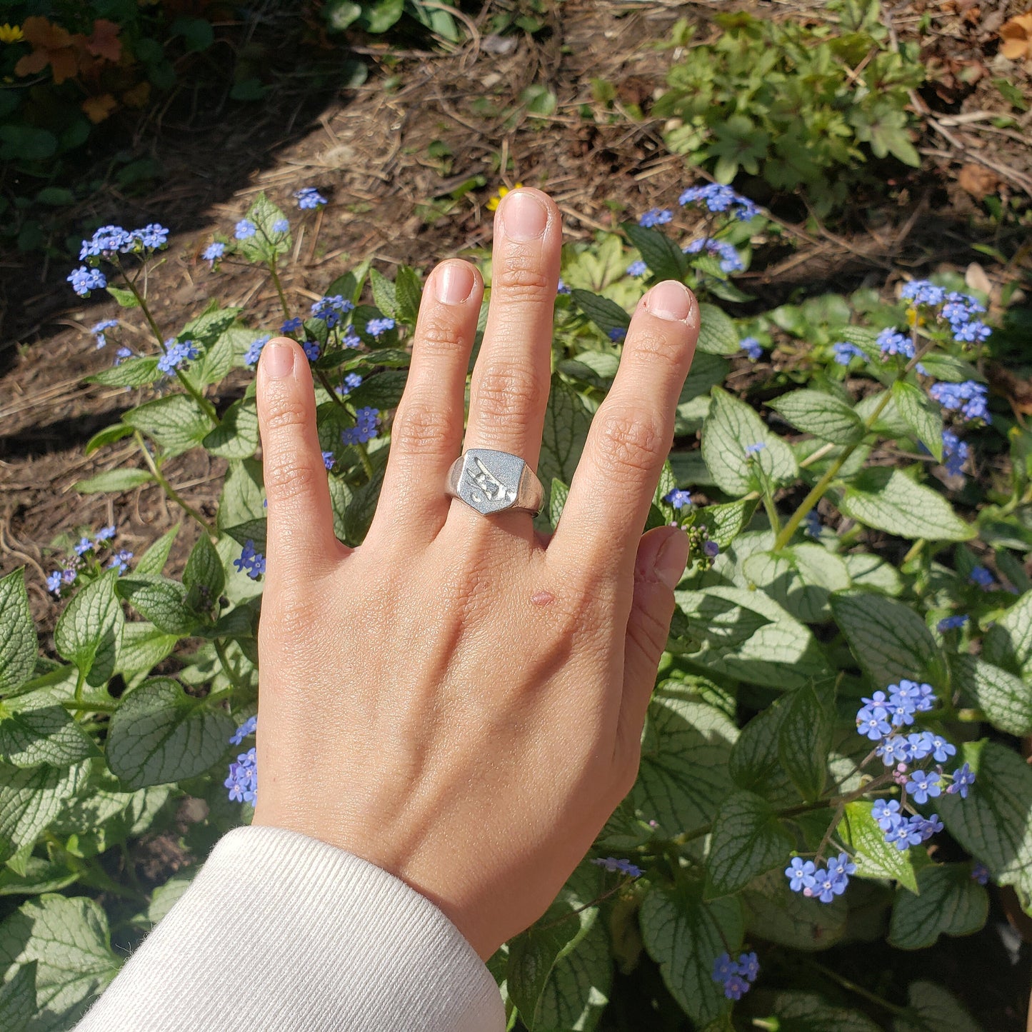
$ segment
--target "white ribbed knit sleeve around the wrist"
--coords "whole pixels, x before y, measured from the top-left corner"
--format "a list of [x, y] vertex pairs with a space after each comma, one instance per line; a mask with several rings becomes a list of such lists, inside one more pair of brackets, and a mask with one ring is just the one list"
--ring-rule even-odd
[[75, 1032], [502, 1032], [483, 961], [428, 899], [297, 832], [237, 828]]

